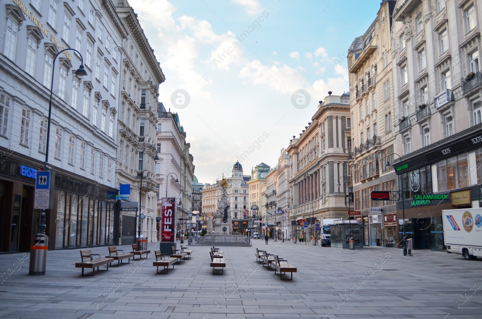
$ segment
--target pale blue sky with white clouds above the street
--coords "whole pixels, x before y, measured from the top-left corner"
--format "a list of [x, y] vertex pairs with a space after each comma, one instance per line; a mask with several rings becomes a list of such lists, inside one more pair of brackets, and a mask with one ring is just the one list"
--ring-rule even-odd
[[318, 101], [328, 91], [348, 91], [347, 50], [375, 19], [380, 0], [130, 5], [166, 76], [160, 101], [179, 113], [195, 175], [213, 183], [243, 153], [245, 174], [260, 162], [274, 166]]

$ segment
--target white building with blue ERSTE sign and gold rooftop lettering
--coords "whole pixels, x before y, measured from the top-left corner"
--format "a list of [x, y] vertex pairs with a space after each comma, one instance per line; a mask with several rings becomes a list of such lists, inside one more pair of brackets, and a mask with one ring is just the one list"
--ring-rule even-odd
[[[0, 218], [8, 221], [0, 250], [28, 251], [38, 232], [33, 177], [44, 168], [52, 79], [49, 248], [113, 243], [115, 202], [107, 192], [116, 186], [118, 47], [126, 29], [112, 3], [99, 0], [1, 1], [0, 21]], [[86, 77], [75, 75], [78, 53], [54, 60], [67, 48], [82, 55]]]

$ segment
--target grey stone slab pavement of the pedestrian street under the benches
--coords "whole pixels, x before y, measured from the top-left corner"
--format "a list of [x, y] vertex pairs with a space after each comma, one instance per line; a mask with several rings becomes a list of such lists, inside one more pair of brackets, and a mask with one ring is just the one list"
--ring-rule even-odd
[[[130, 246], [122, 247], [130, 251]], [[257, 264], [254, 247], [297, 266], [293, 280], [280, 280], [274, 270]], [[154, 251], [156, 244], [148, 248]], [[254, 239], [253, 247], [221, 247], [227, 268], [223, 275], [213, 275], [209, 247], [189, 248], [192, 259], [167, 275], [156, 275], [153, 254], [94, 277], [81, 277], [74, 267], [78, 249], [49, 251], [45, 276], [28, 275], [29, 254], [0, 255], [0, 317], [482, 317], [482, 259], [465, 261], [431, 251], [403, 257], [394, 248], [349, 251], [291, 241], [269, 240], [267, 246]], [[107, 247], [93, 253], [108, 255]], [[22, 264], [15, 263], [22, 258]]]

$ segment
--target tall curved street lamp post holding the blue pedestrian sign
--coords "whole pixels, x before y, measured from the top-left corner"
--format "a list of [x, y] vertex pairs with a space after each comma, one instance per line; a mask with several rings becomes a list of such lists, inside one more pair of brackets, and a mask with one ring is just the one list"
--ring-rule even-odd
[[[51, 83], [50, 83], [49, 117], [48, 117], [48, 120], [47, 120], [47, 140], [46, 140], [46, 144], [45, 144], [45, 163], [44, 163], [45, 170], [49, 170], [49, 171], [52, 171], [52, 167], [50, 167], [50, 165], [48, 165], [48, 162], [49, 162], [49, 144], [50, 144], [50, 122], [51, 122], [51, 119], [52, 119], [52, 95], [53, 95], [53, 91], [54, 91], [55, 60], [57, 59], [57, 56], [60, 55], [60, 53], [63, 53], [63, 52], [68, 51], [68, 50], [75, 51], [75, 52], [79, 53], [79, 56], [80, 56], [80, 66], [75, 71], [75, 74], [78, 77], [80, 77], [80, 79], [87, 75], [87, 71], [84, 68], [84, 60], [83, 60], [82, 54], [80, 54], [79, 51], [77, 51], [75, 49], [64, 49], [64, 50], [60, 51], [59, 53], [57, 53], [55, 55], [54, 62], [52, 64], [52, 80], [51, 80]], [[41, 212], [40, 212], [39, 233], [42, 234], [42, 235], [45, 235], [45, 228], [46, 227], [47, 226], [45, 225], [45, 209], [42, 209]], [[47, 258], [46, 255], [45, 255], [45, 258]], [[30, 258], [30, 264], [32, 264], [34, 262], [33, 260], [34, 260], [34, 258]], [[30, 268], [32, 268], [32, 266]], [[40, 269], [40, 270], [41, 271], [37, 271], [37, 272], [30, 271], [30, 274], [32, 274], [32, 275], [45, 275], [45, 269]]]

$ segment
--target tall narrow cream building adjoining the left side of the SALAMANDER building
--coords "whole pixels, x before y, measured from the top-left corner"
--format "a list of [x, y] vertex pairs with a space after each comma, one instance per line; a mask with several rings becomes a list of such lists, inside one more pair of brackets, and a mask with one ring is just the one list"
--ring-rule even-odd
[[[392, 166], [395, 151], [395, 118], [392, 67], [391, 16], [396, 1], [384, 0], [376, 18], [348, 51], [352, 148], [350, 183], [356, 216], [363, 227], [363, 244], [394, 247], [398, 243], [396, 223], [382, 225], [385, 216], [396, 213], [394, 201], [370, 199], [376, 190], [396, 190]], [[407, 92], [408, 93], [408, 92]], [[345, 179], [344, 179], [345, 180]], [[348, 182], [348, 179], [346, 180]], [[342, 181], [340, 180], [340, 184]]]

